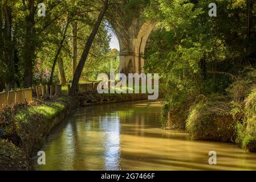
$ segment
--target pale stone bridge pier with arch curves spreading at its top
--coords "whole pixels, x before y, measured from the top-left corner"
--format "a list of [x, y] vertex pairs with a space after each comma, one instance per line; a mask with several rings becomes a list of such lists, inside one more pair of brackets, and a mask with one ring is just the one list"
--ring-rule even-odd
[[126, 19], [120, 19], [123, 21], [121, 23], [109, 21], [119, 39], [119, 72], [126, 75], [128, 73], [144, 73], [145, 60], [142, 55], [145, 52], [149, 35], [157, 24], [156, 20], [145, 18], [145, 9], [138, 9], [137, 12], [133, 18], [128, 17], [129, 13], [122, 12], [120, 16]]

